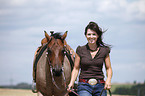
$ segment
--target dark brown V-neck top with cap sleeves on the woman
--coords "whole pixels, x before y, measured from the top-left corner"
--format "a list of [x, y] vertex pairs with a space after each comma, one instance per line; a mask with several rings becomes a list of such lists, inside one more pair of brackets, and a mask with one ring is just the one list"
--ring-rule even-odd
[[104, 79], [102, 68], [105, 57], [110, 53], [108, 47], [100, 46], [99, 51], [94, 58], [92, 58], [87, 44], [84, 46], [78, 46], [76, 53], [80, 56], [80, 79]]

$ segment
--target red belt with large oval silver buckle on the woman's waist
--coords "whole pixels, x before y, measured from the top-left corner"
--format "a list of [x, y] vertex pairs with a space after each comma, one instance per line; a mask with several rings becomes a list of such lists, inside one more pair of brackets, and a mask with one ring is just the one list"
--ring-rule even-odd
[[[105, 83], [103, 79], [79, 79], [79, 82], [89, 83], [90, 85], [95, 85], [97, 83]], [[93, 84], [91, 84], [93, 82]]]

